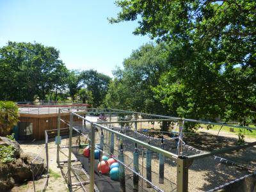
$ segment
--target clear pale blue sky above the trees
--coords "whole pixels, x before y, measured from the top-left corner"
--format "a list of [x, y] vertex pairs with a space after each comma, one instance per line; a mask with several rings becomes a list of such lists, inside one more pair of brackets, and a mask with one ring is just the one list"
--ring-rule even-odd
[[114, 1], [0, 0], [0, 46], [40, 42], [60, 50], [69, 69], [94, 68], [111, 76], [132, 50], [149, 42], [134, 36], [137, 22], [109, 24], [119, 8]]

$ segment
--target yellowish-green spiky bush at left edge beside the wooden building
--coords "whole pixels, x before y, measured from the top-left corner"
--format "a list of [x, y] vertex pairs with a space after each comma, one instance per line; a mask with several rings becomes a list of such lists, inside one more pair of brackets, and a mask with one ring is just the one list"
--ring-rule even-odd
[[18, 106], [12, 101], [0, 101], [0, 136], [10, 134], [19, 122]]

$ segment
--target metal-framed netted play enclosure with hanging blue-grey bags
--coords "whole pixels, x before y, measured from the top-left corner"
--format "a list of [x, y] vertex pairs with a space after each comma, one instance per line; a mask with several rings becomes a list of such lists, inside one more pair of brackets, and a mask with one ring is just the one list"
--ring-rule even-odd
[[[67, 113], [69, 120], [62, 118]], [[95, 113], [105, 114], [107, 121], [93, 120], [90, 114]], [[156, 138], [139, 129], [145, 122], [172, 122], [178, 131], [170, 138], [163, 138], [159, 131], [162, 137]], [[56, 136], [57, 163], [70, 191], [77, 186], [83, 191], [216, 191], [255, 175], [253, 164], [233, 161], [227, 153], [236, 156], [235, 152], [242, 149], [255, 152], [256, 142], [205, 152], [186, 144], [185, 122], [226, 125], [119, 109], [60, 108], [58, 129], [51, 134]], [[61, 124], [67, 127], [60, 128]], [[84, 157], [83, 150], [88, 146], [90, 157]], [[95, 159], [95, 150], [100, 151], [99, 159]], [[97, 170], [102, 156], [119, 163], [118, 181]]]

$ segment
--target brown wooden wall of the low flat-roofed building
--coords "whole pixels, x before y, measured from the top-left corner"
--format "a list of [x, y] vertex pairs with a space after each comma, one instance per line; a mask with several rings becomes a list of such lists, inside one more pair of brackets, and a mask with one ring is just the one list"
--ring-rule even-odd
[[[69, 114], [61, 115], [61, 119], [69, 122]], [[58, 114], [47, 114], [47, 115], [31, 115], [31, 114], [20, 114], [20, 122], [33, 123], [33, 138], [36, 140], [44, 140], [45, 130], [57, 129], [58, 126]], [[74, 122], [81, 122], [82, 120], [74, 116]], [[68, 127], [67, 124], [61, 122], [61, 128]]]

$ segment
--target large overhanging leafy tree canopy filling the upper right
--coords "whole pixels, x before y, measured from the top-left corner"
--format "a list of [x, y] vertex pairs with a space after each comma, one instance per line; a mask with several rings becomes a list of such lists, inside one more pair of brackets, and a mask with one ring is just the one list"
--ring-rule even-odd
[[152, 88], [179, 116], [256, 122], [255, 1], [116, 1], [110, 22], [138, 20], [135, 35], [169, 47]]

